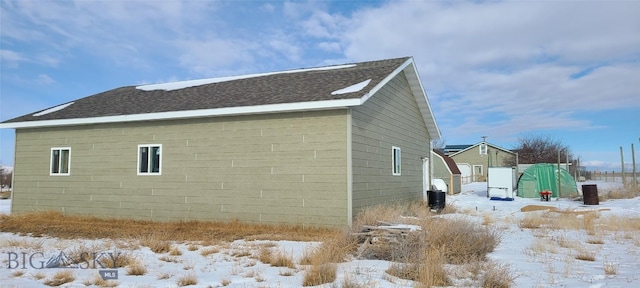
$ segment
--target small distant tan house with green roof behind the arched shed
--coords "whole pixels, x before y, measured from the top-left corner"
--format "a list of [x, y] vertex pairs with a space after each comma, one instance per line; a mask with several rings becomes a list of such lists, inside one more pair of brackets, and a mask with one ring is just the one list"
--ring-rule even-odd
[[462, 182], [486, 181], [488, 167], [511, 167], [516, 163], [516, 153], [486, 141], [474, 145], [447, 145], [444, 151], [460, 168]]

